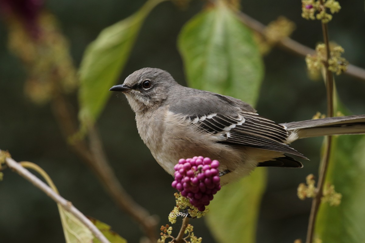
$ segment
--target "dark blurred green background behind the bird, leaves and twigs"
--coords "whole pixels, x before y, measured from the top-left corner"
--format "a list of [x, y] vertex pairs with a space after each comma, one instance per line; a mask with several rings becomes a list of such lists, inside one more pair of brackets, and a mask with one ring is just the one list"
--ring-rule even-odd
[[[57, 16], [69, 39], [74, 64], [80, 64], [85, 47], [99, 32], [137, 11], [145, 1], [48, 0], [46, 8]], [[158, 5], [147, 17], [118, 83], [142, 67], [169, 71], [185, 84], [183, 64], [176, 47], [181, 27], [203, 7], [191, 1], [185, 10], [171, 2]], [[345, 49], [351, 64], [365, 67], [364, 1], [340, 1], [341, 11], [329, 23], [330, 39]], [[319, 21], [300, 17], [300, 1], [241, 1], [242, 11], [268, 24], [284, 15], [296, 23], [292, 38], [311, 48], [322, 41]], [[259, 113], [276, 122], [310, 119], [325, 113], [322, 81], [310, 81], [303, 57], [274, 48], [264, 58], [265, 78], [257, 105]], [[93, 172], [65, 144], [49, 105], [37, 106], [24, 95], [26, 71], [7, 49], [7, 27], [0, 24], [0, 149], [16, 161], [32, 161], [54, 180], [59, 192], [86, 215], [109, 225], [128, 242], [139, 242], [137, 223], [115, 206]], [[347, 75], [335, 77], [340, 99], [354, 114], [364, 114], [365, 82]], [[97, 99], [97, 97], [95, 97]], [[71, 94], [75, 112], [77, 96]], [[154, 161], [137, 133], [134, 114], [124, 97], [115, 94], [101, 114], [97, 127], [105, 153], [125, 189], [151, 214], [168, 223], [174, 206], [172, 177]], [[318, 174], [321, 138], [293, 143], [311, 161], [303, 169], [269, 168], [268, 187], [261, 204], [257, 242], [293, 242], [305, 238], [311, 201], [300, 201], [297, 185]], [[141, 169], [142, 168], [142, 169]], [[258, 168], [260, 169], [260, 168]], [[239, 193], [239, 192], [237, 192]], [[227, 199], [229, 200], [229, 199]], [[249, 200], [249, 199], [247, 199]], [[214, 242], [204, 220], [191, 220], [195, 235]], [[180, 222], [177, 223], [177, 226]], [[177, 227], [175, 226], [175, 227]], [[0, 182], [0, 242], [64, 242], [56, 204], [16, 173], [5, 171]]]

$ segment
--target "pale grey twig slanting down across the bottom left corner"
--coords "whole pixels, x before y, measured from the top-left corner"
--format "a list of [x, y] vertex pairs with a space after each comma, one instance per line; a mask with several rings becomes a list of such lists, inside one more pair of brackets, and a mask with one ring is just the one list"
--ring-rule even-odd
[[[1, 150], [0, 150], [1, 151]], [[43, 181], [41, 181], [38, 177], [29, 172], [26, 168], [20, 165], [18, 162], [13, 160], [12, 158], [5, 158], [6, 164], [12, 170], [16, 171], [20, 176], [24, 177], [28, 181], [30, 181], [35, 187], [41, 189], [47, 196], [51, 197], [57, 204], [61, 205], [66, 211], [72, 213], [78, 220], [80, 220], [97, 239], [102, 243], [110, 243], [107, 238], [99, 231], [98, 228], [77, 208], [75, 208], [72, 203], [59, 194], [57, 194], [53, 189], [51, 189], [48, 185], [46, 185]]]

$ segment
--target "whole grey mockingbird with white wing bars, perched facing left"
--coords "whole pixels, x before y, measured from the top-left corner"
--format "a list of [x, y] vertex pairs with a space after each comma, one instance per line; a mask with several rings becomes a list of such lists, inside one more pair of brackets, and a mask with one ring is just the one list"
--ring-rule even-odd
[[173, 175], [180, 158], [210, 157], [220, 162], [222, 185], [256, 166], [303, 167], [285, 155], [308, 159], [288, 145], [299, 138], [365, 133], [365, 115], [276, 124], [239, 99], [181, 86], [158, 68], [135, 71], [110, 90], [126, 95], [139, 135], [166, 172]]

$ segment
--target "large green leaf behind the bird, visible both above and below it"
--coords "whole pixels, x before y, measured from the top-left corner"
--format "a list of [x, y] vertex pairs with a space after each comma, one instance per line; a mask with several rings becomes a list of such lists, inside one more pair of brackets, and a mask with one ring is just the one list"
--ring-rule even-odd
[[[261, 56], [251, 31], [223, 2], [190, 20], [181, 31], [178, 46], [191, 87], [255, 104], [264, 69]], [[265, 172], [257, 169], [214, 196], [205, 218], [220, 242], [255, 242]]]

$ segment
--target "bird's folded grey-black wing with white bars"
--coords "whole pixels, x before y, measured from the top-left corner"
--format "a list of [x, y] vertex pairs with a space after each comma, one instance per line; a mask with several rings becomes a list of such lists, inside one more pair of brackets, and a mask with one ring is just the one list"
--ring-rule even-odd
[[285, 126], [261, 117], [237, 99], [217, 94], [197, 95], [176, 102], [170, 106], [170, 111], [184, 115], [203, 132], [218, 136], [221, 143], [284, 152], [307, 159], [285, 144], [288, 137]]

